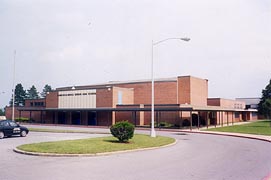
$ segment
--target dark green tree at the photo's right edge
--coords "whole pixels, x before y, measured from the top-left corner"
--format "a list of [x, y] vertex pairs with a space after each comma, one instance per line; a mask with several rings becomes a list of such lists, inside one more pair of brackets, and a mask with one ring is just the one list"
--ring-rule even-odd
[[271, 118], [271, 79], [265, 89], [262, 90], [258, 112], [267, 118]]

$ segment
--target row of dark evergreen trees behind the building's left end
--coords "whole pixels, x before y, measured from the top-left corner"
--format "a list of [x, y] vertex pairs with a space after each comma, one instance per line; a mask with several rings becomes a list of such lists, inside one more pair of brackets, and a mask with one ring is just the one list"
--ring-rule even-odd
[[[15, 99], [14, 99], [14, 105], [15, 106], [24, 106], [26, 99], [39, 99], [44, 98], [46, 94], [50, 91], [52, 91], [52, 87], [48, 84], [46, 84], [42, 90], [41, 93], [38, 92], [37, 88], [32, 85], [28, 90], [24, 90], [24, 87], [21, 83], [17, 84], [15, 86]], [[11, 97], [11, 100], [9, 104], [12, 106], [13, 104], [13, 95]]]

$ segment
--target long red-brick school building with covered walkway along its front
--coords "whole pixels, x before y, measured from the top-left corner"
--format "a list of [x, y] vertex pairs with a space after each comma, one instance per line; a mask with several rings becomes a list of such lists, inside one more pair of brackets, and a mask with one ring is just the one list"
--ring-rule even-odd
[[[155, 126], [225, 125], [257, 119], [244, 101], [208, 98], [208, 80], [193, 76], [157, 79]], [[151, 123], [151, 80], [61, 87], [43, 99], [28, 99], [15, 107], [15, 117], [36, 123], [110, 126], [128, 120], [136, 126]], [[11, 119], [12, 107], [6, 107]]]

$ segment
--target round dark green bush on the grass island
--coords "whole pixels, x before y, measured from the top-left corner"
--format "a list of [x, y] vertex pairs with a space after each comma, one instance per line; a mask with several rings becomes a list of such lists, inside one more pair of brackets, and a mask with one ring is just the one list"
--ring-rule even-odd
[[111, 126], [111, 134], [120, 142], [128, 142], [134, 136], [135, 127], [128, 121], [121, 121]]

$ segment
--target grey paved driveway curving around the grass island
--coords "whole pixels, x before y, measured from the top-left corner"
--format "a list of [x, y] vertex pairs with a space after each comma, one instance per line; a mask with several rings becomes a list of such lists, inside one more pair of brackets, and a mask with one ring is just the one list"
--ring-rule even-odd
[[[271, 172], [271, 143], [158, 132], [178, 140], [156, 150], [98, 157], [36, 157], [14, 153], [20, 144], [96, 137], [31, 132], [0, 140], [1, 180], [261, 180]], [[103, 134], [104, 136], [104, 134]]]

